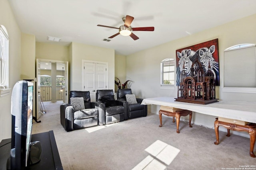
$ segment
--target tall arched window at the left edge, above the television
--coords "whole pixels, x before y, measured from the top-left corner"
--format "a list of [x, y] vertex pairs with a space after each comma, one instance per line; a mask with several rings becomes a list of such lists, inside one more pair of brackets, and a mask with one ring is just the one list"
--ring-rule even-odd
[[9, 36], [6, 28], [0, 25], [0, 96], [9, 93]]

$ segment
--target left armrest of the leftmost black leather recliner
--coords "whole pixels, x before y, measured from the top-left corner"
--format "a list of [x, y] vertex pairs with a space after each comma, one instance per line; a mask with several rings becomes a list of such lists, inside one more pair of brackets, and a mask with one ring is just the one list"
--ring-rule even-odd
[[72, 131], [74, 129], [74, 109], [70, 104], [60, 105], [60, 123], [66, 131]]

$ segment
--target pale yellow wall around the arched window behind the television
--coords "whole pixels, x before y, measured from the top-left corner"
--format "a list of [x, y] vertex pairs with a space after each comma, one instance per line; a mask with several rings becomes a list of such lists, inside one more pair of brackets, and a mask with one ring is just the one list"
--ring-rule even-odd
[[[0, 24], [9, 34], [9, 88], [20, 80], [21, 32], [8, 0], [0, 0]], [[11, 94], [0, 97], [0, 141], [11, 137]]]

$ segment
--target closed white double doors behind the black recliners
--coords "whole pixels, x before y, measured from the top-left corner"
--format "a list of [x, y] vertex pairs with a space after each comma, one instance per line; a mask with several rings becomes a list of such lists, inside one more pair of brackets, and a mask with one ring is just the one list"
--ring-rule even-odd
[[108, 64], [84, 62], [82, 87], [90, 91], [91, 102], [96, 101], [96, 91], [108, 89]]

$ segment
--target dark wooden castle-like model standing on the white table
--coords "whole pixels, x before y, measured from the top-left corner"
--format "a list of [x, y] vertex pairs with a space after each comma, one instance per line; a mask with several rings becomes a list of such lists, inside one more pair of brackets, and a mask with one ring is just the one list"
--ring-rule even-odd
[[200, 62], [192, 63], [190, 76], [186, 75], [183, 66], [180, 74], [180, 86], [178, 86], [178, 98], [175, 98], [175, 101], [195, 104], [218, 102], [215, 98], [214, 74], [210, 62], [206, 72]]

